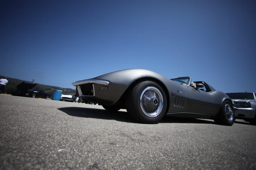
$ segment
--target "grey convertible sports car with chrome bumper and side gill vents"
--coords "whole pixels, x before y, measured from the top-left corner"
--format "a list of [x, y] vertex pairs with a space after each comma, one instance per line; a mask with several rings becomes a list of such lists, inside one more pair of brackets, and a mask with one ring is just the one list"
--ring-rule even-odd
[[165, 115], [213, 119], [228, 126], [234, 123], [236, 108], [230, 97], [204, 81], [192, 82], [190, 77], [169, 79], [145, 69], [127, 69], [72, 85], [82, 99], [108, 111], [127, 109], [142, 123], [157, 123]]

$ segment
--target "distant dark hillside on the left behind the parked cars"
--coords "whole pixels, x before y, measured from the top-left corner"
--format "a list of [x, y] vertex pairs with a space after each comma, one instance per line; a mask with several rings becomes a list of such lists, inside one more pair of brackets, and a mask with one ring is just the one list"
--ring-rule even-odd
[[[0, 79], [3, 78], [4, 76], [0, 76]], [[5, 86], [5, 92], [10, 93], [12, 90], [16, 89], [16, 86], [22, 82], [25, 83], [32, 83], [31, 81], [26, 81], [26, 80], [20, 80], [17, 78], [9, 78], [7, 77], [8, 83]], [[35, 82], [36, 83], [36, 82]], [[75, 93], [75, 89], [70, 89], [70, 88], [62, 88], [62, 87], [57, 87], [57, 86], [49, 86], [49, 85], [44, 85], [44, 84], [37, 84], [34, 89], [41, 89], [44, 90], [47, 93], [50, 93], [51, 96], [53, 94], [54, 90], [62, 90], [62, 94], [66, 93]]]

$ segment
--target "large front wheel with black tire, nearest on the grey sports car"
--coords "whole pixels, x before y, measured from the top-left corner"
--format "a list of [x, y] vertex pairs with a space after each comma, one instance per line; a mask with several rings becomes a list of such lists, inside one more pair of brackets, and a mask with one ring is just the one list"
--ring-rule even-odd
[[129, 115], [141, 123], [159, 122], [165, 115], [167, 107], [165, 92], [153, 81], [143, 81], [132, 87], [126, 96], [125, 103]]

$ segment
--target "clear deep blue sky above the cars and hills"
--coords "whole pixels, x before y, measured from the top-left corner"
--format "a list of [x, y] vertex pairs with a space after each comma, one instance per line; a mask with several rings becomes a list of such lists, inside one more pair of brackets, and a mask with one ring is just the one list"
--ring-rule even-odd
[[72, 88], [128, 68], [256, 92], [256, 1], [0, 3], [0, 75]]

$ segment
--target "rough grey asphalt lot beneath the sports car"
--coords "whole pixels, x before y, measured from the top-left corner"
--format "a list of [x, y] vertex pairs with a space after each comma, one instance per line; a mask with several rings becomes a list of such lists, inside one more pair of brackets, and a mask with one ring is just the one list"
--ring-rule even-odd
[[256, 126], [0, 95], [0, 169], [256, 169]]

